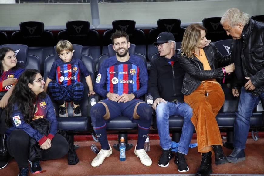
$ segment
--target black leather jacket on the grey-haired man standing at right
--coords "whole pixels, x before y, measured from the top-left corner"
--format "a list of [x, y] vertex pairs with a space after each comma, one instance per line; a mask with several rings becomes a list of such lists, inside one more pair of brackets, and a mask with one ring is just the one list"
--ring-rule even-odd
[[264, 24], [250, 19], [245, 28], [242, 32], [242, 67], [245, 77], [250, 77], [256, 87], [252, 93], [257, 96], [264, 89]]

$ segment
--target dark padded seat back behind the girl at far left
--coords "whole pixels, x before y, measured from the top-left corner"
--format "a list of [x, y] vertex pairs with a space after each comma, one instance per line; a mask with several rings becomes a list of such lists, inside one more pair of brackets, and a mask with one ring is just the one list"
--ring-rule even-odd
[[0, 48], [9, 47], [15, 51], [17, 62], [25, 69], [37, 69], [40, 71], [39, 58], [29, 55], [29, 48], [21, 44], [1, 45]]

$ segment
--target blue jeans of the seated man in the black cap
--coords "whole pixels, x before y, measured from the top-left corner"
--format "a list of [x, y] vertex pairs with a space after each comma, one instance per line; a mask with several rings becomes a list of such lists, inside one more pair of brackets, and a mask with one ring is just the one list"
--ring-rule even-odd
[[160, 137], [160, 145], [164, 150], [171, 148], [169, 117], [173, 115], [180, 115], [184, 117], [178, 152], [186, 155], [188, 153], [189, 144], [194, 131], [194, 126], [191, 122], [192, 109], [186, 103], [174, 103], [167, 101], [167, 103], [161, 102], [157, 105], [156, 120]]

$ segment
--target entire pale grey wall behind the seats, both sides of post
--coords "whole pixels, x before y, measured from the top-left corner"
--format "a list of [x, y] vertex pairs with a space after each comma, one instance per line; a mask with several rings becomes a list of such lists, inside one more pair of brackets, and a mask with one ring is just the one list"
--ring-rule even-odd
[[[182, 22], [202, 22], [222, 16], [237, 7], [253, 15], [264, 15], [264, 0], [208, 0], [153, 3], [99, 3], [100, 24], [132, 19], [137, 24], [156, 24], [158, 19], [178, 18]], [[15, 27], [22, 21], [42, 21], [45, 26], [65, 26], [67, 21], [92, 22], [90, 3], [83, 4], [1, 4], [0, 26]]]

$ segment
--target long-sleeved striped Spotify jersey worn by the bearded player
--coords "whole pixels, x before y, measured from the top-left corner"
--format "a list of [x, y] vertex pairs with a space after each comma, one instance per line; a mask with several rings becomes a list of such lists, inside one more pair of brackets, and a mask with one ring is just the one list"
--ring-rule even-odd
[[147, 93], [147, 81], [147, 68], [142, 59], [130, 55], [127, 62], [119, 62], [113, 56], [100, 66], [94, 89], [103, 97], [111, 92], [118, 95], [133, 93], [138, 98]]

